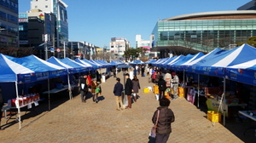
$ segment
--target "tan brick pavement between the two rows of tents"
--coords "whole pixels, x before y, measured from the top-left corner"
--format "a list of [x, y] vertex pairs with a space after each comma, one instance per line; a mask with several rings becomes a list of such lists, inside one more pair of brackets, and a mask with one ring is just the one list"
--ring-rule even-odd
[[[118, 77], [124, 83], [121, 73]], [[142, 88], [153, 86], [153, 83], [148, 83], [148, 77], [138, 77]], [[0, 132], [1, 142], [148, 142], [149, 129], [153, 126], [151, 117], [159, 106], [158, 101], [154, 100], [154, 94], [144, 94], [141, 89], [140, 98], [132, 104], [131, 109], [116, 111], [114, 83], [113, 77], [107, 83], [102, 83], [102, 100], [97, 104], [91, 99], [82, 103], [78, 95], [73, 100], [55, 105], [50, 112], [27, 117], [21, 131], [18, 131], [18, 124], [13, 121], [15, 124]], [[45, 105], [40, 108], [44, 107], [46, 111], [48, 108]], [[222, 124], [216, 123], [213, 127], [205, 117], [205, 112], [183, 98], [173, 100], [171, 108], [176, 121], [172, 123], [172, 134], [168, 142], [243, 142]]]

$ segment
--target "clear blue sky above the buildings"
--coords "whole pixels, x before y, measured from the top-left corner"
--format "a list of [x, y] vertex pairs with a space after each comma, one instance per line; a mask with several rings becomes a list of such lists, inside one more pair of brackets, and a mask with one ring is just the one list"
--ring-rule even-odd
[[[180, 14], [236, 10], [251, 0], [62, 0], [67, 3], [69, 39], [98, 47], [111, 37], [125, 37], [135, 47], [135, 35], [144, 40], [156, 21]], [[19, 11], [30, 10], [31, 0], [20, 0]]]

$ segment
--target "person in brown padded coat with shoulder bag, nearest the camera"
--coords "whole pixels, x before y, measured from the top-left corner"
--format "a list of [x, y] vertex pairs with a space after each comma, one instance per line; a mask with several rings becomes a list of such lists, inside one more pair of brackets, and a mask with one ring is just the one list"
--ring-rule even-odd
[[[152, 122], [155, 124], [158, 118], [155, 143], [166, 143], [172, 133], [171, 124], [175, 121], [174, 113], [172, 109], [168, 108], [171, 101], [162, 98], [160, 100], [160, 106], [154, 112]], [[158, 116], [159, 115], [159, 116]]]

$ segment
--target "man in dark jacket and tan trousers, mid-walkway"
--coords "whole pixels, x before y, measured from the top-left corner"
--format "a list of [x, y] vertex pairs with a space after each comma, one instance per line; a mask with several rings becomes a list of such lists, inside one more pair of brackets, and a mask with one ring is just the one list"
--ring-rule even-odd
[[113, 94], [115, 96], [116, 110], [118, 110], [118, 111], [120, 110], [120, 107], [121, 107], [121, 110], [124, 110], [123, 101], [122, 101], [123, 90], [124, 90], [123, 84], [120, 83], [120, 78], [117, 77], [116, 83], [113, 87]]

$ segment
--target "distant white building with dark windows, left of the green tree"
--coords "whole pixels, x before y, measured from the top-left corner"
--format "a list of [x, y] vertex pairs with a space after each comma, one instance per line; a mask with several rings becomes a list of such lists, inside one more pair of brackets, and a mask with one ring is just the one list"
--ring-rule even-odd
[[124, 60], [123, 55], [125, 50], [130, 48], [130, 43], [124, 37], [112, 37], [111, 43], [109, 43], [111, 54], [113, 54], [113, 59]]

